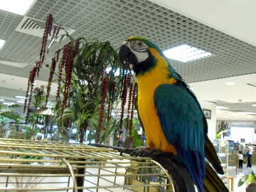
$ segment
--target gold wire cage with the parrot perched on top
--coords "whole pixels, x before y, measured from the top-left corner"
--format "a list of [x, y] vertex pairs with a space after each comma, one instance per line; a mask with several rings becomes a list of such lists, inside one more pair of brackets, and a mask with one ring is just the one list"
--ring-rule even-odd
[[0, 139], [0, 191], [174, 191], [150, 158], [64, 142]]

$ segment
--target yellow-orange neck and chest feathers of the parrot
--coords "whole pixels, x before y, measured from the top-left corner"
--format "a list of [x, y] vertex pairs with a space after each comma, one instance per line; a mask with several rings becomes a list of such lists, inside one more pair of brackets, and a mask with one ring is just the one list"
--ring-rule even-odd
[[174, 146], [171, 146], [164, 137], [161, 124], [154, 107], [154, 90], [161, 84], [176, 84], [174, 78], [169, 78], [168, 65], [164, 58], [154, 49], [150, 50], [156, 58], [156, 66], [143, 75], [137, 75], [138, 84], [138, 110], [139, 117], [146, 133], [146, 144], [162, 151], [176, 154]]

